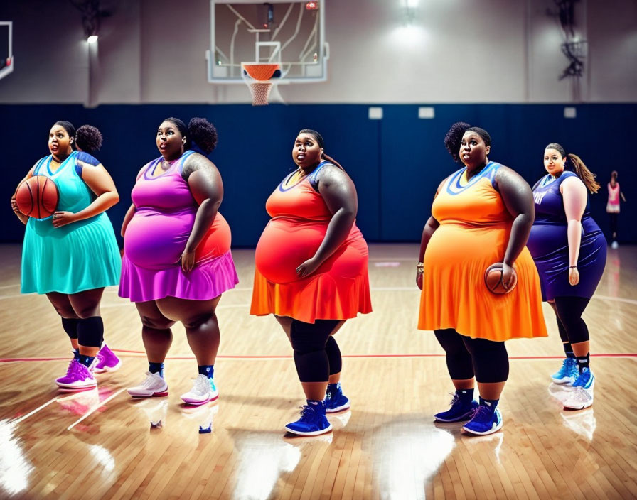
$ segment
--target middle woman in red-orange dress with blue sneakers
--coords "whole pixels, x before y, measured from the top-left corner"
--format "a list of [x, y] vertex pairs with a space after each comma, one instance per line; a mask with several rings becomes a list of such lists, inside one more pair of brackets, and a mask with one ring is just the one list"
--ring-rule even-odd
[[346, 320], [372, 310], [368, 248], [355, 224], [354, 184], [324, 153], [321, 135], [301, 130], [292, 158], [299, 168], [265, 205], [272, 219], [257, 244], [250, 313], [274, 314], [294, 349], [307, 405], [286, 429], [319, 435], [331, 430], [326, 412], [350, 406], [333, 335]]

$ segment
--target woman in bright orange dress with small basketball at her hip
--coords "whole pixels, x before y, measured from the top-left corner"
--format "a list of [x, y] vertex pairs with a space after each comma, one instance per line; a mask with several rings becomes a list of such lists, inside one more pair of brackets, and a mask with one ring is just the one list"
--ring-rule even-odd
[[[505, 340], [547, 336], [540, 278], [525, 246], [533, 197], [520, 175], [488, 160], [485, 130], [456, 123], [445, 145], [465, 167], [439, 185], [422, 232], [418, 328], [434, 330], [456, 388], [451, 409], [436, 420], [469, 420], [466, 432], [485, 435], [502, 427], [497, 406], [509, 371]], [[486, 288], [484, 273], [493, 263], [502, 263], [505, 288], [514, 286], [515, 268], [518, 284], [508, 293]], [[473, 401], [476, 380], [479, 404]]]

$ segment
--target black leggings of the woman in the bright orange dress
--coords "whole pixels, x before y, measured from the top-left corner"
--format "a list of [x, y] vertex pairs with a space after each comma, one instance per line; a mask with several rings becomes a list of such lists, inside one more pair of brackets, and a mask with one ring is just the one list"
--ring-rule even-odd
[[446, 352], [446, 367], [452, 380], [473, 379], [481, 383], [504, 382], [509, 376], [509, 357], [504, 342], [472, 339], [453, 328], [434, 330]]

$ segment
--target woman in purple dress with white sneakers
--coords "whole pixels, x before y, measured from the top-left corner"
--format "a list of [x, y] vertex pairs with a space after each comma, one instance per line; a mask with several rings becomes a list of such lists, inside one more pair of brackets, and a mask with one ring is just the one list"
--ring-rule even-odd
[[215, 308], [221, 294], [238, 283], [230, 254], [230, 227], [217, 211], [223, 184], [203, 154], [216, 146], [217, 131], [205, 119], [165, 119], [156, 135], [161, 156], [137, 175], [133, 204], [122, 224], [124, 256], [119, 295], [137, 306], [149, 371], [134, 397], [166, 396], [164, 359], [181, 321], [198, 364], [185, 403], [218, 397], [213, 381], [219, 348]]

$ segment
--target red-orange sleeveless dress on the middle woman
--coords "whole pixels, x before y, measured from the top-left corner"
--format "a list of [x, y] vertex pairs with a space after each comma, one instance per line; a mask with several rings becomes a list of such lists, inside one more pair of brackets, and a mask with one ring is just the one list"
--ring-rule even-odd
[[356, 224], [343, 244], [310, 276], [296, 268], [310, 259], [325, 238], [331, 212], [310, 181], [311, 175], [288, 186], [288, 175], [268, 198], [272, 217], [255, 252], [255, 286], [250, 314], [315, 320], [347, 320], [372, 311], [368, 247]]

